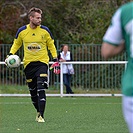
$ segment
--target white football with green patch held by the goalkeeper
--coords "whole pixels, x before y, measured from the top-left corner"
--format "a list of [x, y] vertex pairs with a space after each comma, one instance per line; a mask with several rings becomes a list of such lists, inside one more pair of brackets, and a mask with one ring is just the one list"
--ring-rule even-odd
[[6, 58], [5, 63], [9, 68], [16, 68], [20, 66], [21, 59], [18, 55], [10, 55]]

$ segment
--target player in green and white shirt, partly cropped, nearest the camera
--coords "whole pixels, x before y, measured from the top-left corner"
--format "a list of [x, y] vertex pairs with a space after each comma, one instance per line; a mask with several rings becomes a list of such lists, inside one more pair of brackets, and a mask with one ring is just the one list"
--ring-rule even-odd
[[108, 59], [123, 50], [127, 52], [128, 63], [122, 77], [122, 106], [129, 131], [133, 133], [133, 2], [115, 12], [103, 37], [101, 54]]

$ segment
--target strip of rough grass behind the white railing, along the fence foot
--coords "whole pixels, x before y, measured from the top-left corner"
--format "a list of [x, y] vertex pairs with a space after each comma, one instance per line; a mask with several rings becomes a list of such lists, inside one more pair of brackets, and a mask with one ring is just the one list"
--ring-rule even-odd
[[[58, 88], [58, 87], [57, 87]], [[47, 90], [47, 93], [52, 93], [52, 94], [59, 94], [60, 89], [57, 89], [55, 86], [50, 86], [49, 89]], [[76, 94], [87, 94], [87, 93], [104, 93], [104, 94], [116, 94], [116, 93], [121, 93], [120, 90], [113, 90], [113, 89], [93, 89], [93, 90], [88, 90], [88, 89], [81, 89], [81, 88], [72, 88], [74, 93]], [[1, 84], [0, 85], [0, 94], [29, 94], [28, 86], [27, 85], [5, 85]], [[64, 87], [64, 93], [66, 93], [65, 87]]]

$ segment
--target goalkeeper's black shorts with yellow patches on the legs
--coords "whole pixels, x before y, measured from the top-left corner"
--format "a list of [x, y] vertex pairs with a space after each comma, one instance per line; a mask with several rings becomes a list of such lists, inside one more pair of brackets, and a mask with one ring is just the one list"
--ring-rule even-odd
[[27, 65], [24, 72], [28, 86], [30, 88], [35, 88], [38, 77], [41, 77], [42, 75], [43, 77], [48, 76], [48, 65], [42, 62], [31, 62]]

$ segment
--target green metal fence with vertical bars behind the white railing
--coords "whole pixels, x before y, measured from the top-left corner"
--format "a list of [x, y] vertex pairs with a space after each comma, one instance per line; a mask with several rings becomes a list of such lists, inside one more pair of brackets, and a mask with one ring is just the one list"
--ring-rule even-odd
[[[0, 61], [4, 61], [9, 53], [10, 44], [0, 44]], [[69, 44], [74, 61], [104, 61], [101, 57], [100, 44]], [[57, 44], [58, 53], [60, 45]], [[17, 53], [21, 59], [23, 48]], [[110, 61], [126, 61], [126, 54], [110, 59]], [[97, 90], [120, 90], [121, 75], [125, 69], [125, 64], [73, 64], [75, 74], [72, 76], [72, 87], [82, 91]], [[0, 65], [1, 85], [26, 85], [23, 66], [17, 69], [8, 69], [5, 65]], [[50, 86], [52, 89], [60, 89], [60, 76], [54, 75], [50, 71]]]

